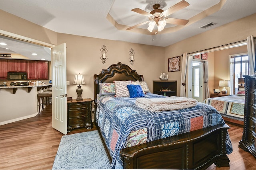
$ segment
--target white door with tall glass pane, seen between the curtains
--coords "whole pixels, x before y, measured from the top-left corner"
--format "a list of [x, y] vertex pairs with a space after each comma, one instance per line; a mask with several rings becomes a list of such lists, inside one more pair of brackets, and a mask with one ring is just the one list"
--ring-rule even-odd
[[202, 62], [192, 63], [192, 98], [202, 102], [203, 98], [203, 74]]

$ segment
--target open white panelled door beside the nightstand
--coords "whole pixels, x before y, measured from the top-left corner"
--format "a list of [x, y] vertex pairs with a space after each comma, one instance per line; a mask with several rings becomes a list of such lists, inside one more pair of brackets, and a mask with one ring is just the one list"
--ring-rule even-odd
[[52, 127], [67, 134], [66, 43], [52, 48]]

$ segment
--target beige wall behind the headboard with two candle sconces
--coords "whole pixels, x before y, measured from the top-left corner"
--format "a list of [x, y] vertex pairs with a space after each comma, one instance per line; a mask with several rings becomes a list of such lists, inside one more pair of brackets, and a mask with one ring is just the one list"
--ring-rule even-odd
[[[136, 70], [138, 74], [142, 74], [150, 91], [152, 91], [152, 80], [159, 80], [158, 77], [164, 72], [164, 47], [58, 33], [58, 44], [64, 42], [67, 45], [67, 81], [70, 81], [67, 94], [72, 98], [77, 98], [77, 86], [73, 85], [74, 74], [84, 74], [86, 85], [82, 86], [82, 97], [93, 99], [93, 75], [99, 74], [102, 69], [107, 69], [110, 64], [119, 61]], [[100, 60], [102, 45], [108, 50], [106, 54], [108, 60], [104, 64]], [[133, 65], [128, 61], [131, 48], [135, 52]]]

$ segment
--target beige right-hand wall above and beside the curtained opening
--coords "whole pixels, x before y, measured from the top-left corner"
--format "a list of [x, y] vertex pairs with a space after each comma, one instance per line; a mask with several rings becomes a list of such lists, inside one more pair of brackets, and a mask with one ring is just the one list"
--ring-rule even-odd
[[[168, 62], [168, 58], [181, 55], [184, 52], [193, 53], [193, 52], [201, 51], [204, 49], [210, 49], [213, 47], [218, 47], [221, 45], [226, 45], [229, 43], [246, 40], [246, 38], [250, 35], [254, 35], [254, 37], [256, 37], [256, 14], [242, 18], [237, 21], [233, 21], [226, 25], [222, 25], [215, 29], [211, 29], [209, 31], [195, 35], [193, 37], [190, 37], [188, 39], [185, 39], [183, 41], [180, 41], [178, 43], [175, 43], [166, 47], [165, 62], [166, 63]], [[213, 64], [213, 63], [209, 62], [209, 65], [210, 64]], [[219, 66], [220, 64], [216, 64], [215, 62], [214, 70], [218, 70]], [[168, 72], [167, 64], [165, 64], [164, 67], [165, 67], [165, 72]], [[218, 68], [216, 69], [216, 67]], [[224, 63], [221, 66], [221, 68], [226, 68], [226, 67], [228, 67], [228, 65]], [[180, 94], [180, 76], [181, 76], [180, 74], [181, 72], [169, 73], [169, 77], [173, 78], [174, 80], [178, 80], [177, 94]], [[214, 82], [216, 80], [217, 79], [214, 78]], [[210, 85], [210, 82], [209, 82], [209, 85]], [[187, 89], [186, 89], [186, 92], [187, 92]]]

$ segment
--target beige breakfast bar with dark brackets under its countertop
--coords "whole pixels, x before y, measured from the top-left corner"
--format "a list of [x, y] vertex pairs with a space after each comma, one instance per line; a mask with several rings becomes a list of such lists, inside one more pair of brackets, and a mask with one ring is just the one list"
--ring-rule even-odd
[[51, 90], [51, 86], [0, 86], [0, 125], [36, 116], [38, 94]]

